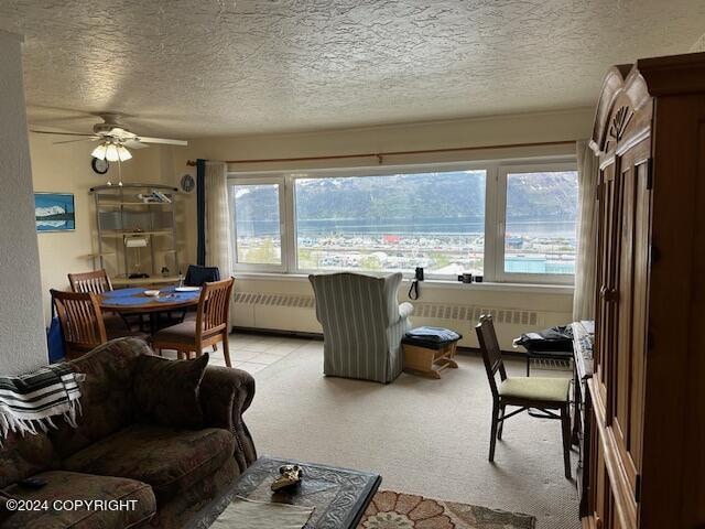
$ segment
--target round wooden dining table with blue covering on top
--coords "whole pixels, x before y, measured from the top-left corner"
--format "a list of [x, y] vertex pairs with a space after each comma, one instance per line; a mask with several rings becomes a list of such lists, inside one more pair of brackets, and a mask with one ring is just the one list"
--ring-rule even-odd
[[149, 316], [150, 334], [159, 331], [160, 314], [185, 312], [198, 305], [200, 288], [198, 287], [164, 287], [156, 295], [145, 292], [156, 292], [143, 288], [109, 290], [100, 294], [100, 310], [127, 316]]

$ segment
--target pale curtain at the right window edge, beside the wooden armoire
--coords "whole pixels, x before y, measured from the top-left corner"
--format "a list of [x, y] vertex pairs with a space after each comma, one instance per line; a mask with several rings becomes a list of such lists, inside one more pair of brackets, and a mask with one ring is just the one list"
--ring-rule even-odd
[[597, 253], [597, 182], [598, 159], [587, 141], [578, 141], [578, 224], [575, 259], [573, 321], [595, 320], [595, 259]]

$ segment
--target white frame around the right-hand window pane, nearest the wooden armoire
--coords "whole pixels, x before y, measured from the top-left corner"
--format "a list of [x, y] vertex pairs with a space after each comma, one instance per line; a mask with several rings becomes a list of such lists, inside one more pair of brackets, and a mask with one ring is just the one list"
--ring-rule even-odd
[[[521, 164], [501, 164], [497, 168], [497, 179], [495, 187], [495, 207], [492, 210], [496, 218], [494, 257], [490, 259], [491, 281], [499, 283], [531, 283], [531, 284], [574, 284], [574, 273], [518, 273], [505, 271], [505, 250], [507, 237], [507, 181], [509, 174], [518, 173], [541, 173], [541, 172], [564, 172], [577, 171], [577, 162], [560, 161], [560, 162], [542, 162], [542, 163], [521, 163]], [[576, 204], [576, 207], [579, 207]], [[576, 218], [576, 224], [579, 222]], [[487, 233], [487, 229], [486, 229]], [[576, 234], [577, 240], [577, 234]], [[486, 250], [487, 251], [487, 241]], [[487, 262], [487, 261], [486, 261]], [[487, 271], [487, 268], [486, 268]]]

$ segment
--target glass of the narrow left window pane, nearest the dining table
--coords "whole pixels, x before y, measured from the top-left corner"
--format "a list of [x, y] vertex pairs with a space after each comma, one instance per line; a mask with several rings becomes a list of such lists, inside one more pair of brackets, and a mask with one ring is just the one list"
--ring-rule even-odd
[[279, 181], [239, 180], [230, 186], [239, 268], [283, 270], [282, 186]]

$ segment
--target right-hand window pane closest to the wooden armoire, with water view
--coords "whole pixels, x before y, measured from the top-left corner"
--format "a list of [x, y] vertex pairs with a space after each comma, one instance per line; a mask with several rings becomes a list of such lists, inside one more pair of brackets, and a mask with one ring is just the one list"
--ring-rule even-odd
[[506, 169], [499, 279], [570, 282], [575, 273], [577, 171]]

